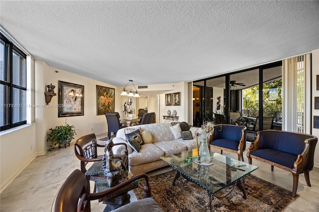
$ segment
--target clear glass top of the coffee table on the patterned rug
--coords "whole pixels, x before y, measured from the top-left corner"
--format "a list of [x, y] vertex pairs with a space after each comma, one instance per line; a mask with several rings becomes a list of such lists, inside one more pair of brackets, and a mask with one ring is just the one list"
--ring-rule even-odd
[[240, 178], [258, 169], [257, 166], [216, 152], [210, 152], [210, 156], [213, 164], [208, 166], [200, 165], [200, 162], [187, 162], [186, 158], [192, 157], [192, 152], [187, 151], [160, 159], [180, 172], [184, 178], [200, 185], [211, 194], [233, 185]]

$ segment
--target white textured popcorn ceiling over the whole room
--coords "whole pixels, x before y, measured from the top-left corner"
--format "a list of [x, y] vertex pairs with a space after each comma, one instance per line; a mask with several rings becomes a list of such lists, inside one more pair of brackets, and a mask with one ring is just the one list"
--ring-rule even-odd
[[319, 48], [319, 1], [0, 1], [49, 66], [116, 86], [192, 81]]

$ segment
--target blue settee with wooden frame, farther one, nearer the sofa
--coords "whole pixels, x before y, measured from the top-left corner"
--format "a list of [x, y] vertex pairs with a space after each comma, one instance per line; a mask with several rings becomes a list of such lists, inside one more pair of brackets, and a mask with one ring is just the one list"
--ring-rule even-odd
[[220, 149], [221, 154], [223, 154], [223, 150], [237, 153], [238, 160], [244, 161], [243, 151], [246, 149], [246, 134], [247, 128], [245, 126], [217, 124], [213, 126], [209, 144]]

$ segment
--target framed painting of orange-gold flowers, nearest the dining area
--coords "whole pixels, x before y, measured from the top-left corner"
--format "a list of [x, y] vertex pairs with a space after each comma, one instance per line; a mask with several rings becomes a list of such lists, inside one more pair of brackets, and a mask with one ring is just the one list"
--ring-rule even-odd
[[115, 89], [96, 86], [96, 114], [104, 115], [115, 111]]

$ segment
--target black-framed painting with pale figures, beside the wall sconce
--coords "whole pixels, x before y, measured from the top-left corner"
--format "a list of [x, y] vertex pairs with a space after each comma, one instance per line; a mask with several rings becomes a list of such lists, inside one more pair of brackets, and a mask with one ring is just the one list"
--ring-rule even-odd
[[59, 81], [58, 117], [84, 115], [84, 86]]

